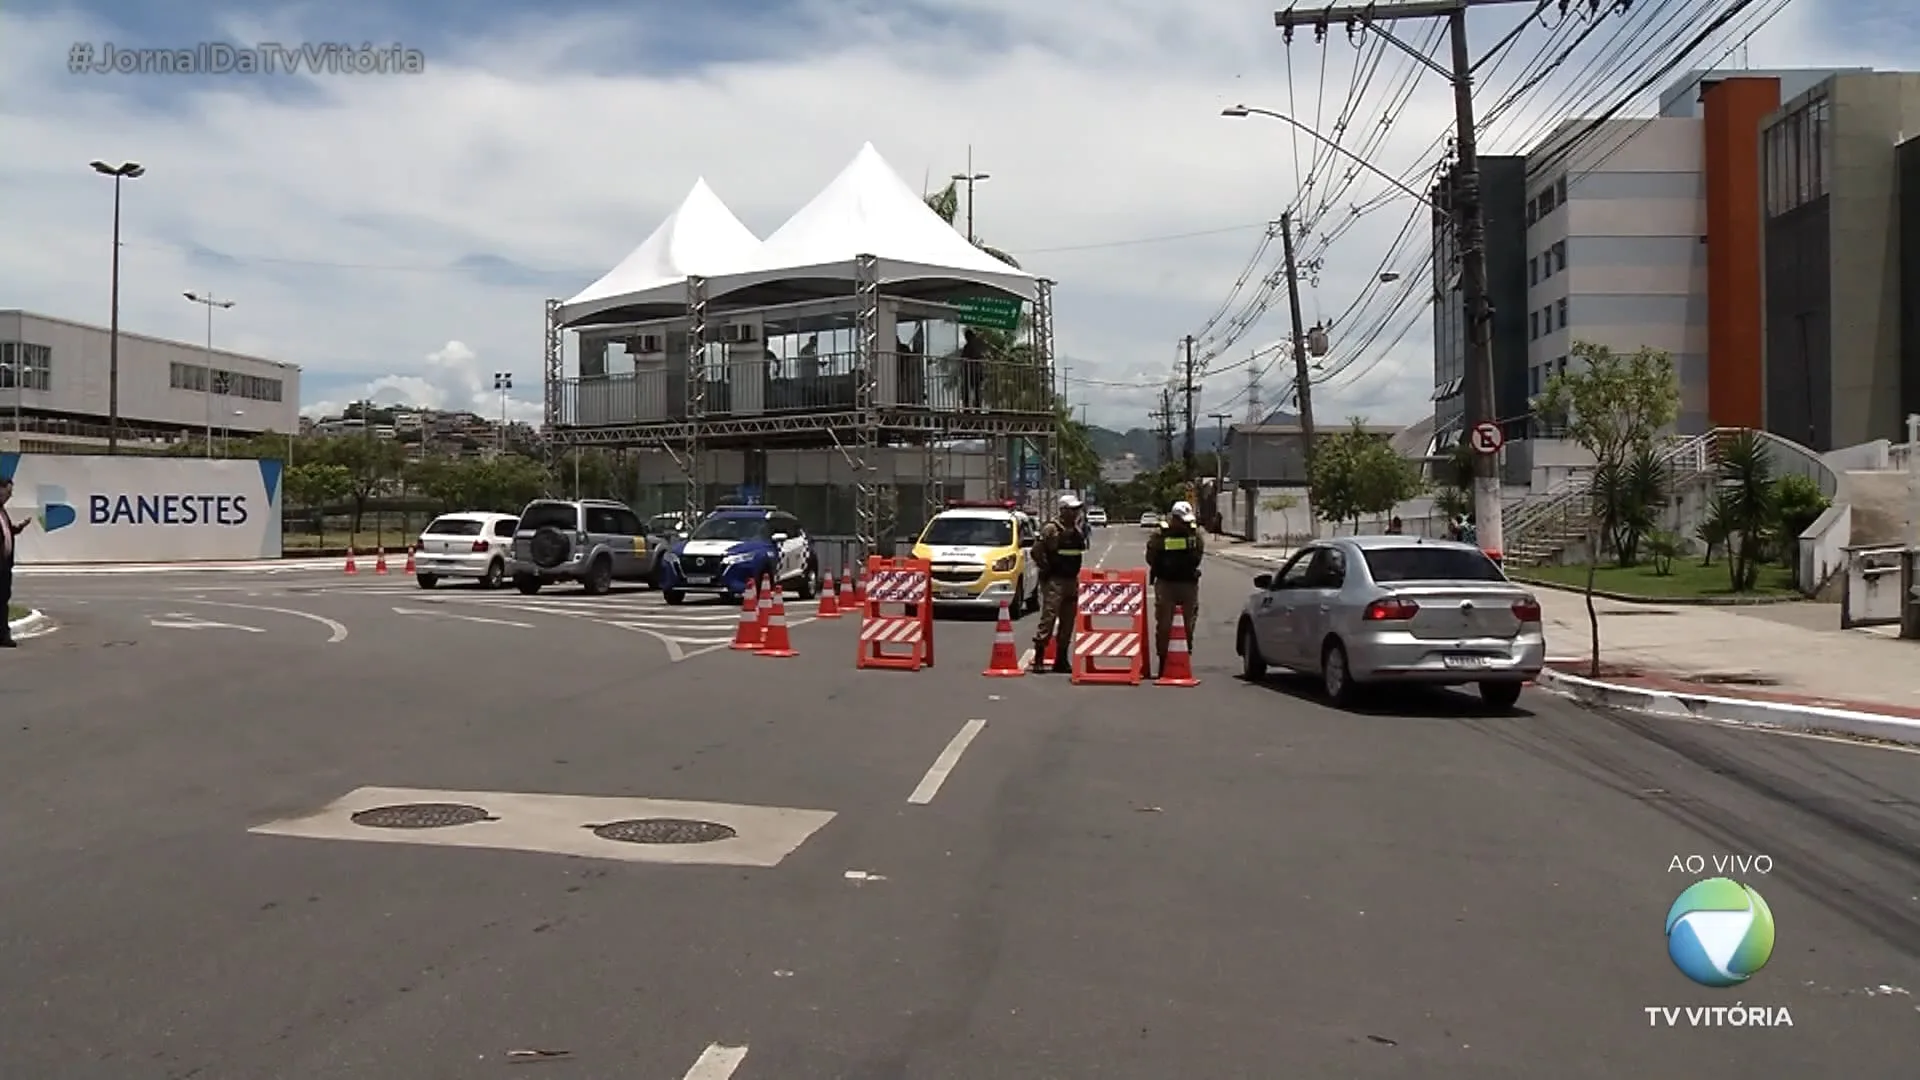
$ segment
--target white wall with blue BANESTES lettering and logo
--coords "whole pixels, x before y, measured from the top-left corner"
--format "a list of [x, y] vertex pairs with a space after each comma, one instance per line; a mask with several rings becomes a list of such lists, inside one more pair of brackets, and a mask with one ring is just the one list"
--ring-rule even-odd
[[23, 563], [280, 557], [280, 461], [0, 454]]

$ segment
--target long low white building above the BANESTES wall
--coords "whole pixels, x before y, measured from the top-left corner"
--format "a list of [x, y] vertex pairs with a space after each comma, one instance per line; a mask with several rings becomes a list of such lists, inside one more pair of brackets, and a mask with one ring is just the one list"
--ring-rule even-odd
[[[6, 448], [104, 442], [111, 334], [31, 311], [0, 311], [0, 430]], [[209, 363], [211, 357], [211, 363]], [[300, 367], [121, 331], [123, 440], [169, 440], [215, 427], [292, 432]]]

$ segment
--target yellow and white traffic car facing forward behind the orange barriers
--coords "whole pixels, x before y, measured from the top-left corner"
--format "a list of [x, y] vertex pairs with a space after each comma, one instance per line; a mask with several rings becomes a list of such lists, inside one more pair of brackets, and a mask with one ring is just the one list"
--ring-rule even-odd
[[1035, 534], [1020, 503], [948, 502], [914, 544], [914, 557], [933, 563], [933, 605], [996, 609], [1004, 600], [1016, 619], [1037, 609]]

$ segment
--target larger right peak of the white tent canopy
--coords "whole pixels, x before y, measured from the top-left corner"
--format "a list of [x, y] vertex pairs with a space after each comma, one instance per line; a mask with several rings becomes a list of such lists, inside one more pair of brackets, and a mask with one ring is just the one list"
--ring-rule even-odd
[[[981, 252], [887, 165], [868, 142], [833, 183], [774, 231], [745, 267], [705, 273], [708, 300], [755, 286], [843, 281], [852, 292], [854, 261], [879, 259], [879, 282], [981, 286], [1035, 300], [1039, 279]], [[684, 281], [684, 279], [682, 279]], [[684, 286], [662, 284], [637, 304], [685, 304]]]

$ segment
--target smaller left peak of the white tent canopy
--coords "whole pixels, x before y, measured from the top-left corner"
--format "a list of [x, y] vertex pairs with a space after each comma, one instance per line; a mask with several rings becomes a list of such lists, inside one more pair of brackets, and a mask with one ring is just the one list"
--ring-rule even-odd
[[716, 277], [760, 265], [760, 238], [755, 236], [705, 179], [641, 240], [634, 254], [605, 277], [561, 306], [561, 325], [572, 325], [614, 309], [685, 307], [687, 277]]

